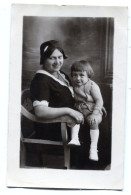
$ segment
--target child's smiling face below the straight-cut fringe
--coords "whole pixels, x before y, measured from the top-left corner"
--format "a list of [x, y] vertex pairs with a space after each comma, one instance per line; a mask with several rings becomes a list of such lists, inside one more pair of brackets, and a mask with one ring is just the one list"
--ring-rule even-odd
[[81, 86], [88, 81], [88, 75], [86, 71], [73, 71], [72, 79], [75, 85]]

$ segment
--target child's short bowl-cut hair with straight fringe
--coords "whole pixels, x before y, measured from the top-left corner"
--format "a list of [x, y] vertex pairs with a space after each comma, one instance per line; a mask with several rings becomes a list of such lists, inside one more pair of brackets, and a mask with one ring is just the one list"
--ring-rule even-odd
[[71, 76], [73, 71], [86, 71], [89, 78], [91, 78], [94, 75], [94, 71], [91, 67], [91, 62], [89, 60], [80, 60], [76, 61], [71, 66]]

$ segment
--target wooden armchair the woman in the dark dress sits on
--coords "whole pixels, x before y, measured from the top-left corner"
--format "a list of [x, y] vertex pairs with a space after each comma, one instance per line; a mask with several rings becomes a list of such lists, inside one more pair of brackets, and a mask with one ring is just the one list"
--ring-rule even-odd
[[[30, 136], [28, 138], [24, 138], [21, 131], [21, 164], [25, 164], [26, 160], [26, 151], [24, 143], [35, 143], [35, 144], [50, 144], [50, 145], [60, 145], [64, 147], [64, 167], [69, 169], [70, 168], [70, 147], [67, 146], [68, 142], [68, 134], [67, 134], [67, 122], [73, 122], [73, 119], [69, 116], [54, 118], [53, 120], [43, 120], [37, 118], [34, 114], [32, 114], [33, 106], [30, 99], [30, 91], [26, 89], [22, 92], [22, 105], [21, 105], [21, 117], [26, 117], [27, 119], [31, 120], [32, 122], [37, 123], [61, 123], [61, 135], [62, 141], [51, 141], [51, 140], [41, 140], [41, 139], [32, 139]], [[21, 118], [22, 120], [22, 118]]]

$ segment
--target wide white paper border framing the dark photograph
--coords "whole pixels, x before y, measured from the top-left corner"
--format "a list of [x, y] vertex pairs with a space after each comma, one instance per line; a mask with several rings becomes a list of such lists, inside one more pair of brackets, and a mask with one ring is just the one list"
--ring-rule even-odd
[[[23, 169], [19, 167], [23, 16], [114, 17], [111, 170]], [[71, 189], [123, 188], [126, 57], [126, 7], [13, 5], [11, 22], [8, 186]]]

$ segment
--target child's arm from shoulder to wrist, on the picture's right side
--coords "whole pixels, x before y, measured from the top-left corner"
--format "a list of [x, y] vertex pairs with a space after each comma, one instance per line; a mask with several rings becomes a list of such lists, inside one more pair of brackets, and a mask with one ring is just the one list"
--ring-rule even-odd
[[91, 87], [91, 95], [95, 101], [95, 107], [96, 110], [101, 110], [103, 107], [103, 98], [101, 95], [101, 91], [99, 86], [96, 83], [92, 83]]

